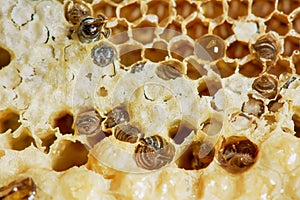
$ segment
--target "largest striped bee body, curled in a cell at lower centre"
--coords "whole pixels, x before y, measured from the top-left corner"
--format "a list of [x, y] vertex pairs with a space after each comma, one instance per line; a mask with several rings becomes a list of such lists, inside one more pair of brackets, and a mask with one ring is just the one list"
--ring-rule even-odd
[[175, 148], [159, 135], [141, 139], [135, 149], [134, 160], [138, 167], [159, 169], [173, 160]]

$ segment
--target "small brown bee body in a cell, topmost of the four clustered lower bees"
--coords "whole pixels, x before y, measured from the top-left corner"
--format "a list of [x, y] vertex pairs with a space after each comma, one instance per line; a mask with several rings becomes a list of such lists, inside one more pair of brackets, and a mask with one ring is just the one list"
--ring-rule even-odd
[[124, 107], [120, 106], [108, 112], [106, 117], [107, 118], [104, 122], [105, 128], [112, 128], [118, 124], [129, 122], [130, 120], [128, 112]]

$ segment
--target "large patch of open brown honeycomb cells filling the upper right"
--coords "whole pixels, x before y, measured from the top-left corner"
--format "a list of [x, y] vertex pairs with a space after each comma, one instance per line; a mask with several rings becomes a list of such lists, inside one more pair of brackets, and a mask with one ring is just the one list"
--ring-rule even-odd
[[[248, 78], [264, 72], [278, 78], [282, 74], [299, 74], [298, 4], [297, 1], [276, 4], [275, 1], [153, 0], [101, 1], [92, 5], [68, 1], [65, 18], [76, 25], [75, 32], [81, 42], [97, 41], [103, 35], [115, 44], [123, 68], [147, 61], [159, 62], [166, 65], [166, 69], [158, 70], [162, 79], [166, 79], [165, 72], [172, 79], [184, 75], [198, 82], [200, 96], [212, 96], [221, 86], [207, 92], [208, 85], [218, 84], [205, 78], [209, 69], [221, 79], [236, 73]], [[110, 20], [114, 24], [108, 28]], [[239, 23], [249, 23], [255, 29], [254, 39], [245, 41], [238, 36]], [[95, 64], [106, 66], [115, 51], [102, 45], [91, 54]], [[177, 61], [182, 63], [180, 67], [173, 66]]]

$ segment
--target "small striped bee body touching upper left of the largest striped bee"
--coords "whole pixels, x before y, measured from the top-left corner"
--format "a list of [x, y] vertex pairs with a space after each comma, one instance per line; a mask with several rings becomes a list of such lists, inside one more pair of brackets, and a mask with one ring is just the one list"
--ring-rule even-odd
[[115, 129], [116, 139], [129, 143], [136, 143], [142, 137], [140, 130], [132, 125], [120, 125]]

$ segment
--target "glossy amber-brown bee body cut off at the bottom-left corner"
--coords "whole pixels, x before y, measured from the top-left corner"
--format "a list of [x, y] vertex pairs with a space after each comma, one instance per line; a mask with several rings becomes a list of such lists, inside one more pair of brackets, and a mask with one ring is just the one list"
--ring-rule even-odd
[[36, 195], [36, 185], [31, 178], [22, 178], [0, 188], [0, 199], [33, 200]]

